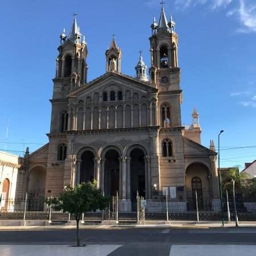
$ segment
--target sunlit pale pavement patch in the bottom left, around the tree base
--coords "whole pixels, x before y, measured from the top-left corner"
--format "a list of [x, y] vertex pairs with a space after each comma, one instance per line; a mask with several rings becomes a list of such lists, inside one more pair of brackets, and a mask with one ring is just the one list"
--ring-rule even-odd
[[69, 245], [0, 245], [1, 256], [106, 256], [122, 245], [87, 245], [72, 247]]

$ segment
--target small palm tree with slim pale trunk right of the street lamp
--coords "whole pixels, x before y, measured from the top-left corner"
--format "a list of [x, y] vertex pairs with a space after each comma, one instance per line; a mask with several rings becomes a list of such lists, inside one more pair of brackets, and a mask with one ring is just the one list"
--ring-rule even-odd
[[245, 180], [248, 179], [248, 175], [246, 172], [239, 172], [239, 169], [237, 167], [233, 167], [229, 169], [229, 179], [224, 184], [224, 187], [227, 188], [230, 185], [232, 185], [233, 190], [233, 203], [234, 203], [234, 212], [236, 217], [236, 226], [238, 226], [238, 217], [237, 217], [237, 207], [236, 207], [236, 195], [235, 195], [235, 187], [237, 185], [242, 185], [242, 183], [245, 182]]

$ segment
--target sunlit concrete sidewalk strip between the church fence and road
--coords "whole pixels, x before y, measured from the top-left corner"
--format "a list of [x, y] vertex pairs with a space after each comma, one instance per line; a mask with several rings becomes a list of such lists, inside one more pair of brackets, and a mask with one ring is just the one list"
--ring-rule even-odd
[[[219, 221], [169, 221], [164, 224], [152, 223], [135, 224], [135, 225], [82, 225], [80, 229], [134, 229], [134, 228], [221, 228], [222, 224]], [[224, 228], [236, 227], [235, 222], [225, 223]], [[256, 222], [240, 222], [240, 228], [256, 228]], [[0, 230], [57, 230], [57, 229], [76, 229], [76, 225], [20, 225], [20, 226], [0, 226]]]

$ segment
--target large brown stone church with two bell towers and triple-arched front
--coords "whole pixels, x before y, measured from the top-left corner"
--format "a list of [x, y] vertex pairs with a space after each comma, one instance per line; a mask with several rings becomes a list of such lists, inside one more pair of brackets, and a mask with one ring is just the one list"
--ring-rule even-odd
[[191, 125], [181, 125], [178, 35], [163, 8], [150, 33], [149, 72], [141, 53], [135, 76], [123, 74], [113, 38], [106, 72], [92, 81], [76, 17], [69, 34], [60, 35], [49, 143], [26, 152], [24, 193], [57, 196], [65, 184], [96, 179], [105, 195], [118, 192], [126, 211], [134, 210], [137, 191], [146, 199], [168, 193], [192, 200], [196, 190], [202, 199], [218, 199], [217, 154], [212, 141], [201, 145], [197, 111]]

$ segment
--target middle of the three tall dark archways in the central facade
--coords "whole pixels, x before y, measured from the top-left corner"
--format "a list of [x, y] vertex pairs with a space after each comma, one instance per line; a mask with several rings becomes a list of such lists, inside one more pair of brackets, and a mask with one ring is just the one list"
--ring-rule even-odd
[[107, 196], [117, 195], [119, 191], [119, 154], [110, 149], [105, 154], [104, 192]]

